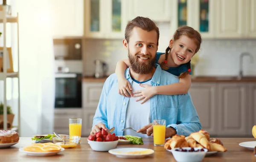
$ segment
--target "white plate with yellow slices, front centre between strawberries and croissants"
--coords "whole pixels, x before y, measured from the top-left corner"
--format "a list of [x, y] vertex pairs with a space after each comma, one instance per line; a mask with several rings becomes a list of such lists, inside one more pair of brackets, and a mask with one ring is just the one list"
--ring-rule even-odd
[[127, 152], [131, 152], [131, 151], [144, 151], [144, 150], [148, 150], [148, 148], [116, 148], [108, 152], [121, 158], [143, 158], [147, 155], [151, 155], [154, 153], [154, 150], [150, 149], [152, 151], [151, 153], [138, 154], [138, 155], [127, 154]]

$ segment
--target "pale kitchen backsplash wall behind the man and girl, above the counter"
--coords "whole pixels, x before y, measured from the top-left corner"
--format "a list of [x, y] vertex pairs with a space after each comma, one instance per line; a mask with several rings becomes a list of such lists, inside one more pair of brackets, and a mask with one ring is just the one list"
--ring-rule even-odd
[[[159, 46], [158, 51], [164, 52], [169, 39], [160, 35], [159, 43], [164, 46]], [[122, 40], [90, 39], [84, 41], [84, 47], [84, 75], [94, 74], [96, 59], [108, 63], [108, 74], [112, 74], [115, 72], [116, 63], [127, 58], [128, 54], [122, 46]], [[249, 52], [254, 58], [250, 60], [250, 57], [244, 57], [244, 75], [256, 76], [256, 40], [203, 40], [195, 76], [236, 76], [239, 73], [239, 55], [242, 52]]]

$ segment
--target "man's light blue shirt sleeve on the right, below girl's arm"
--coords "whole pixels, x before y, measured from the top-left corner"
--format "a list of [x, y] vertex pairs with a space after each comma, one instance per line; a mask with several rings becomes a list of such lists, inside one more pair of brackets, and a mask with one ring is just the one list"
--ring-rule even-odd
[[175, 128], [178, 135], [184, 136], [189, 136], [192, 132], [201, 130], [202, 125], [189, 93], [180, 95], [177, 124], [167, 125], [167, 128], [169, 127]]

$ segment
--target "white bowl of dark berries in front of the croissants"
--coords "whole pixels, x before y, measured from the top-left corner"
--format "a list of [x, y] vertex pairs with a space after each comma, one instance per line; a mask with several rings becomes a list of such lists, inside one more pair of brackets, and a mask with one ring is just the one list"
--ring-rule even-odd
[[[179, 148], [172, 149], [172, 155], [174, 156], [177, 162], [201, 162], [204, 159], [206, 152], [208, 151], [204, 148], [204, 151], [198, 152], [182, 152], [182, 151], [175, 151]], [[184, 150], [190, 150], [190, 147], [182, 148]], [[201, 148], [194, 148], [195, 151], [201, 150]]]

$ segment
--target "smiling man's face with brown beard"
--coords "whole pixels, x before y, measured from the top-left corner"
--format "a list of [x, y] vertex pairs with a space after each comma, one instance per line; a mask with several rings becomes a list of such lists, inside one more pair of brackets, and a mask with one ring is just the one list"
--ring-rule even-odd
[[129, 43], [124, 40], [123, 44], [128, 49], [131, 69], [137, 74], [150, 73], [157, 52], [157, 32], [134, 27]]

